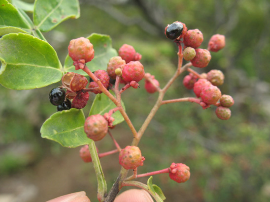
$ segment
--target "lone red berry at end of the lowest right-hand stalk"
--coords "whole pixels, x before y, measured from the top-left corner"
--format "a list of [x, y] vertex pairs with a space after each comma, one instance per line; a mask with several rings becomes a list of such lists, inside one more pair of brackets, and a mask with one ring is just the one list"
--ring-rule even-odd
[[185, 182], [190, 178], [190, 169], [185, 164], [172, 163], [169, 167], [169, 177], [178, 183]]

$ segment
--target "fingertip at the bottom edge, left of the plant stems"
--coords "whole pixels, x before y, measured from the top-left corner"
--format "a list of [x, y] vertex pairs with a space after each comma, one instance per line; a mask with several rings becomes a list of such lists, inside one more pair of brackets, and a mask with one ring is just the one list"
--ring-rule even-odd
[[85, 192], [76, 192], [57, 197], [47, 202], [90, 202]]

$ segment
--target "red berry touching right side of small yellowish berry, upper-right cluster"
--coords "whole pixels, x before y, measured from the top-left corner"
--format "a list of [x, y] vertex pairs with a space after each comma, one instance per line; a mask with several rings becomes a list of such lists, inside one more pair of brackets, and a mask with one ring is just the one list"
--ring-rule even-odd
[[191, 60], [191, 63], [195, 67], [206, 67], [211, 60], [211, 54], [206, 49], [196, 49], [196, 56]]

